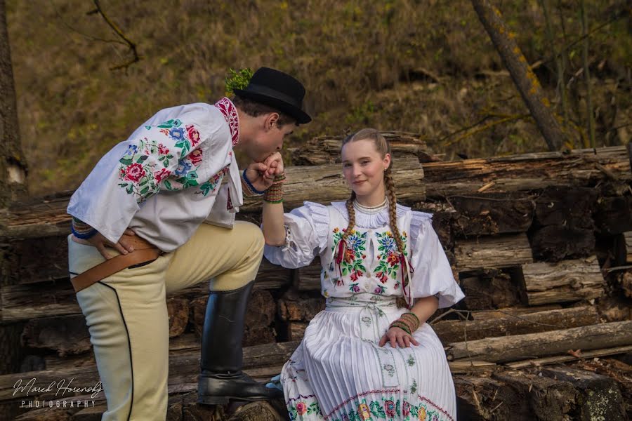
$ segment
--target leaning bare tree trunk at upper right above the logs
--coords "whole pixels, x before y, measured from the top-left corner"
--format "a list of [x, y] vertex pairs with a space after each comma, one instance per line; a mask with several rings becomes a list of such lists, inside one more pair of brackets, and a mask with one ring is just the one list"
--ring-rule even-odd
[[565, 136], [551, 111], [551, 103], [544, 95], [537, 76], [515, 42], [515, 34], [506, 27], [500, 11], [492, 6], [489, 0], [472, 0], [472, 5], [534, 117], [548, 149], [560, 149]]

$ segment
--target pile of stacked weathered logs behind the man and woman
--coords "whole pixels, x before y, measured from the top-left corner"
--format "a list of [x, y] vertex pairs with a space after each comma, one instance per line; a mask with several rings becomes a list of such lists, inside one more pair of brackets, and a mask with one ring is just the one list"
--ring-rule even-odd
[[[632, 171], [626, 147], [440, 161], [410, 133], [388, 133], [400, 201], [433, 213], [466, 298], [430, 324], [445, 346], [459, 420], [624, 420], [632, 415]], [[340, 138], [295, 149], [286, 211], [348, 197]], [[98, 382], [88, 330], [67, 278], [65, 214], [72, 192], [15, 203], [1, 215], [0, 328], [12, 349], [0, 373], [0, 418], [93, 420], [91, 408], [20, 408], [18, 379]], [[259, 222], [246, 200], [239, 218]], [[169, 420], [263, 420], [283, 403], [195, 403], [208, 287], [168, 297]], [[263, 262], [247, 316], [246, 371], [279, 373], [324, 307], [320, 262]], [[50, 392], [31, 394], [45, 400]], [[86, 395], [80, 399], [88, 399]], [[90, 399], [93, 401], [93, 399]]]

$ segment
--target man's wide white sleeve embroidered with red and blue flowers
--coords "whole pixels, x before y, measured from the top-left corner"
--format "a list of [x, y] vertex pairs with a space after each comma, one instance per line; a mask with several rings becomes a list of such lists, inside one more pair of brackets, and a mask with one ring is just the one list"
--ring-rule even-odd
[[208, 107], [180, 105], [154, 114], [98, 161], [70, 198], [67, 213], [116, 242], [154, 194], [199, 187], [202, 149], [213, 150], [202, 164], [205, 173], [222, 171], [230, 138], [221, 126], [225, 121], [210, 118]]

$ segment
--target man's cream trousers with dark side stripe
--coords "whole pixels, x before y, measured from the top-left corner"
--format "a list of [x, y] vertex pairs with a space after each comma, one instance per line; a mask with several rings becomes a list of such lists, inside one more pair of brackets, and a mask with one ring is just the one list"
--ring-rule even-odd
[[[202, 224], [173, 253], [124, 269], [77, 293], [107, 399], [102, 421], [166, 418], [166, 295], [204, 281], [214, 291], [244, 286], [255, 279], [263, 243], [261, 229], [249, 222], [237, 221], [233, 229]], [[69, 236], [68, 260], [70, 276], [76, 276], [105, 259], [93, 246]]]

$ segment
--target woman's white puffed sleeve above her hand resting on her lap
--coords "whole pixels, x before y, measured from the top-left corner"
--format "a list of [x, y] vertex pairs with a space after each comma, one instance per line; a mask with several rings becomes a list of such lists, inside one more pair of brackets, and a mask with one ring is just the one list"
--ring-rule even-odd
[[414, 298], [438, 294], [439, 308], [450, 307], [462, 300], [465, 295], [454, 280], [445, 251], [433, 228], [432, 214], [413, 212], [410, 230]]

